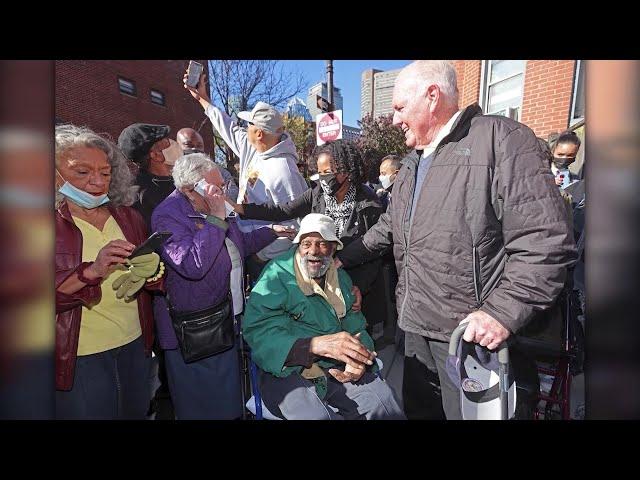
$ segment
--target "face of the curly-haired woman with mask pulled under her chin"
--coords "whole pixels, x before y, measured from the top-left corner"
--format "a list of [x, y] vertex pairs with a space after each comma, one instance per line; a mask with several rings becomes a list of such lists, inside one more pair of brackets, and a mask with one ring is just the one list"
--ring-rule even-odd
[[[63, 153], [57, 162], [56, 187], [66, 180], [80, 190], [100, 196], [109, 193], [111, 165], [107, 154], [92, 147], [76, 146]], [[60, 178], [62, 177], [62, 179]]]

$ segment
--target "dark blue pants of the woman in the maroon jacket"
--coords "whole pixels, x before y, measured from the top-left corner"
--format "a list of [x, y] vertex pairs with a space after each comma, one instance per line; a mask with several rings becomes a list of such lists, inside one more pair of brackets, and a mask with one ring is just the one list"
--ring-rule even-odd
[[144, 420], [149, 367], [142, 337], [106, 352], [79, 356], [73, 388], [56, 392], [56, 418]]

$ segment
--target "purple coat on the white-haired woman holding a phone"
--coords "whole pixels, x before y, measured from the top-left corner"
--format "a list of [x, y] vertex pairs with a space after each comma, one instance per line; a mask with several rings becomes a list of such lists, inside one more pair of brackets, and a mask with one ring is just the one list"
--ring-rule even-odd
[[[244, 233], [235, 219], [227, 220], [229, 228], [226, 232], [208, 223], [178, 190], [154, 210], [152, 230], [173, 233], [163, 245], [161, 257], [167, 266], [165, 289], [176, 310], [199, 310], [224, 300], [229, 291], [231, 273], [225, 236], [233, 241], [243, 258], [262, 250], [276, 239], [270, 228]], [[178, 348], [164, 297], [157, 296], [153, 307], [161, 348]]]

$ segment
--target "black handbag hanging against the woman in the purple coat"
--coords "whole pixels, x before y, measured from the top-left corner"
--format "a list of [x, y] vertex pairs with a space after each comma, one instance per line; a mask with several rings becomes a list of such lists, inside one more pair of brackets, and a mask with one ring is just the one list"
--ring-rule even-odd
[[233, 347], [235, 332], [231, 295], [218, 305], [191, 312], [175, 310], [168, 296], [167, 304], [185, 363], [196, 362]]

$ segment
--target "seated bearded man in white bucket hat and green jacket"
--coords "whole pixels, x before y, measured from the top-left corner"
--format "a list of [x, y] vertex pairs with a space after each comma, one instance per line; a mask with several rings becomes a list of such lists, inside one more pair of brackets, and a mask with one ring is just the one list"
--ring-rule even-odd
[[245, 310], [244, 338], [259, 367], [262, 401], [287, 420], [405, 419], [377, 372], [351, 280], [335, 268], [333, 220], [307, 215], [295, 248], [273, 259]]

